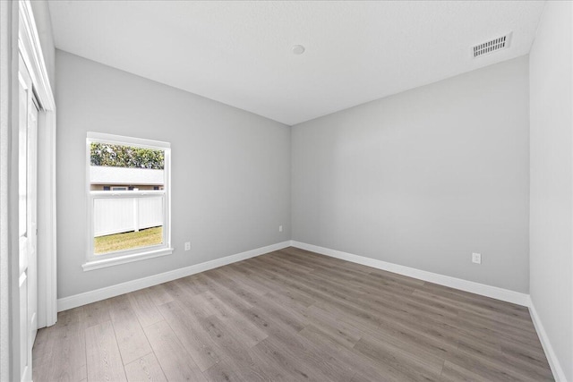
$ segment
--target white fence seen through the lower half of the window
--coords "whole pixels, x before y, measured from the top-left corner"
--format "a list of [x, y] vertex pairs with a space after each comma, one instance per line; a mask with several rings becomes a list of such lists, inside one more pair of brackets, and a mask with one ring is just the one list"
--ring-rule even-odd
[[164, 197], [93, 199], [94, 237], [163, 225]]

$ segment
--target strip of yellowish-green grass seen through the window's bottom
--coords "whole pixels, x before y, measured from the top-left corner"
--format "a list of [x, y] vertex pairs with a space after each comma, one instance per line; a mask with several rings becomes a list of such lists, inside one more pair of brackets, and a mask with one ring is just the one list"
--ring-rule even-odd
[[163, 242], [163, 227], [154, 227], [140, 232], [108, 234], [94, 238], [94, 253], [97, 255], [116, 250], [133, 250]]

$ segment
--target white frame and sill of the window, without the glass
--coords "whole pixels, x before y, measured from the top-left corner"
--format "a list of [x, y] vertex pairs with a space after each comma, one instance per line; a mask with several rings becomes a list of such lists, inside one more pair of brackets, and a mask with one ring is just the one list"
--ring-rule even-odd
[[[165, 153], [165, 184], [163, 190], [145, 191], [91, 191], [90, 190], [90, 144], [108, 143], [121, 146], [132, 146], [141, 149], [158, 149]], [[157, 258], [173, 253], [171, 248], [171, 145], [159, 140], [144, 140], [141, 138], [124, 137], [121, 135], [105, 134], [101, 132], [88, 132], [86, 138], [86, 193], [88, 199], [88, 248], [84, 271], [112, 267], [142, 259]], [[106, 198], [149, 198], [163, 196], [163, 243], [148, 247], [134, 248], [133, 250], [118, 250], [105, 254], [94, 254], [94, 216], [93, 206], [95, 199]]]

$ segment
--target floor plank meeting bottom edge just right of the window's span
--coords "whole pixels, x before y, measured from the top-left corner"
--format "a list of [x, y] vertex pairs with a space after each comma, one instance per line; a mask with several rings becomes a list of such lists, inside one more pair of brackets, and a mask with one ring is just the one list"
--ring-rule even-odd
[[166, 321], [159, 321], [143, 330], [167, 380], [206, 380]]

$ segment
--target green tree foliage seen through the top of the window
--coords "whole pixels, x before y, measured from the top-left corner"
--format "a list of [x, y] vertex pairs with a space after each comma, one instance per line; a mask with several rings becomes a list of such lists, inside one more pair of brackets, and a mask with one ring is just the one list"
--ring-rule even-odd
[[162, 150], [141, 149], [108, 143], [91, 143], [90, 162], [91, 166], [163, 170], [165, 156]]

